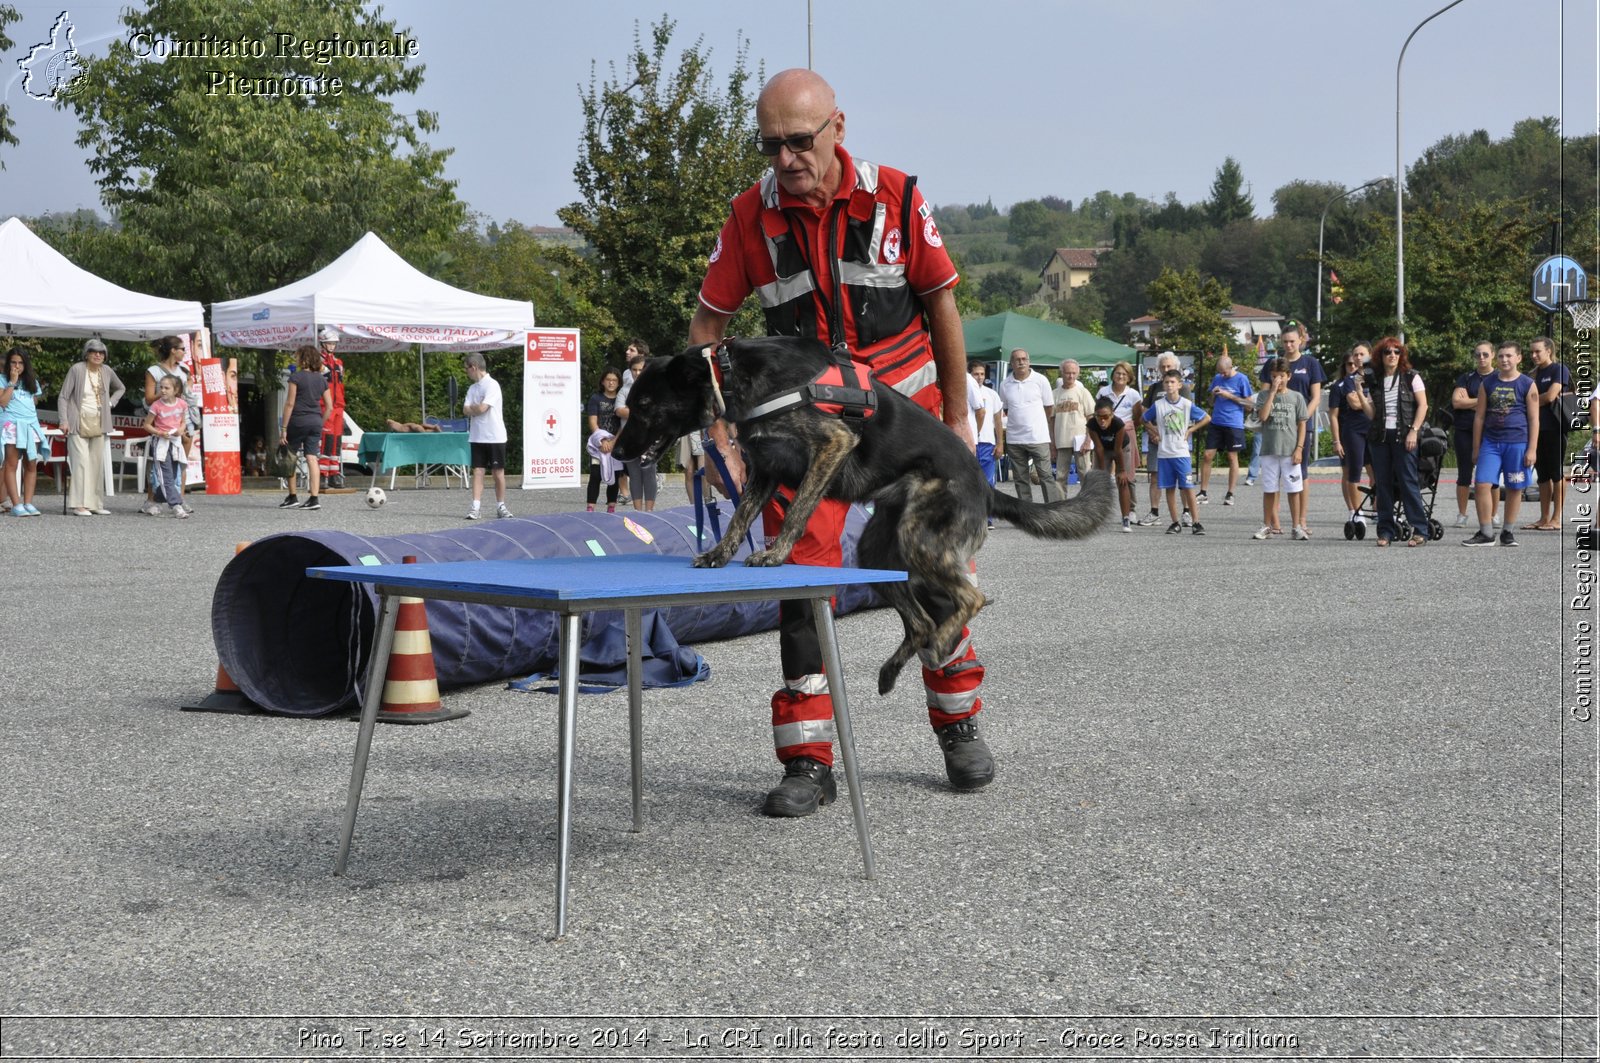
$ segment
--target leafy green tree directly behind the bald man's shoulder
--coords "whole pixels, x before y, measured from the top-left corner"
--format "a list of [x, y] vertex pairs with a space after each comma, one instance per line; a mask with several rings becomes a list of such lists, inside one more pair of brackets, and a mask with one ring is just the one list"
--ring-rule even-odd
[[[573, 166], [582, 199], [558, 211], [587, 243], [586, 253], [557, 255], [568, 283], [610, 311], [618, 335], [656, 351], [685, 344], [728, 200], [766, 166], [754, 144], [760, 75], [747, 66], [747, 46], [718, 90], [701, 40], [669, 54], [674, 27], [664, 16], [646, 43], [635, 24], [622, 72], [590, 78]], [[762, 331], [754, 304], [728, 331]]]

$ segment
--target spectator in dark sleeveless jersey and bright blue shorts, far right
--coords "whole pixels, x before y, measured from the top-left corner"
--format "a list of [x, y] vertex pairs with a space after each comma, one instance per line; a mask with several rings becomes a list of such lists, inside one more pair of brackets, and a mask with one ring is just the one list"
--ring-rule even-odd
[[1506, 522], [1501, 546], [1520, 546], [1512, 522], [1522, 507], [1522, 488], [1539, 453], [1539, 392], [1531, 378], [1517, 371], [1522, 351], [1502, 343], [1494, 352], [1494, 376], [1478, 386], [1478, 410], [1472, 419], [1472, 451], [1477, 455], [1478, 530], [1462, 546], [1494, 546], [1494, 483], [1506, 475]]

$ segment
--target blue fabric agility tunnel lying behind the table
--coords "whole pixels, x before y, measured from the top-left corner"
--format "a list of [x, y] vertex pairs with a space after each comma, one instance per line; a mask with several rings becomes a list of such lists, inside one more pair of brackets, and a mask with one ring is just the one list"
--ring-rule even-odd
[[[867, 512], [851, 506], [845, 565]], [[712, 543], [707, 532], [706, 546]], [[368, 538], [346, 532], [274, 535], [240, 551], [211, 597], [211, 636], [222, 668], [251, 701], [285, 716], [325, 716], [355, 704], [378, 623], [378, 596], [366, 586], [309, 580], [318, 565], [512, 560], [667, 554], [693, 557], [691, 507], [656, 512], [574, 512], [491, 520], [451, 532]], [[749, 544], [733, 564], [742, 564]], [[838, 613], [877, 605], [870, 588], [845, 588]], [[682, 644], [730, 639], [778, 626], [776, 602], [678, 607], [659, 612]], [[584, 640], [621, 613], [584, 618]], [[429, 602], [427, 628], [440, 687], [461, 687], [549, 671], [557, 660], [555, 616], [542, 610]], [[776, 647], [774, 647], [776, 660]]]

